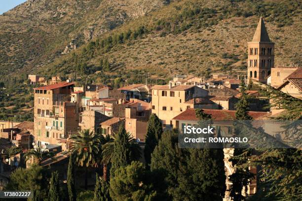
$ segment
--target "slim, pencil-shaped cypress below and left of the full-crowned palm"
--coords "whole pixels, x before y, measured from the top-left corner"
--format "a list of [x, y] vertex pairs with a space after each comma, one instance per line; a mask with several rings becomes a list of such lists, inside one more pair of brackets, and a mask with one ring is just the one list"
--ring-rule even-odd
[[67, 189], [69, 201], [76, 201], [76, 187], [75, 187], [75, 169], [73, 154], [70, 155], [67, 172]]

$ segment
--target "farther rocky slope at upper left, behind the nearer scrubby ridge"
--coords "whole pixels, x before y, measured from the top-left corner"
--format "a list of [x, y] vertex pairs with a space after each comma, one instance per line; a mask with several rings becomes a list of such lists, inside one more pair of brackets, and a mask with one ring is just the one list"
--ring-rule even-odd
[[146, 15], [163, 0], [28, 0], [0, 15], [0, 75], [27, 72], [60, 57], [126, 21]]

